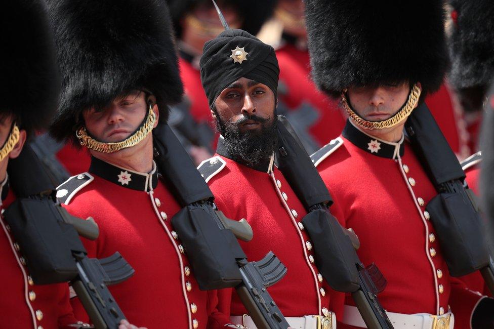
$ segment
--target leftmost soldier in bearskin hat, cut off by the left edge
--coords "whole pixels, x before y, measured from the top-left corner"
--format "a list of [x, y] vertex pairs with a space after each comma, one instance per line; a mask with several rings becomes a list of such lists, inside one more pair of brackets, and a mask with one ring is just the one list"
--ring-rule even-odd
[[[2, 112], [0, 123], [0, 191], [2, 214], [14, 201], [7, 165], [22, 150], [26, 136], [47, 125], [59, 92], [56, 55], [45, 6], [39, 1], [3, 4], [0, 22], [2, 52]], [[2, 326], [8, 328], [79, 327], [69, 303], [66, 283], [37, 285], [10, 227], [0, 218], [0, 264], [3, 291]]]

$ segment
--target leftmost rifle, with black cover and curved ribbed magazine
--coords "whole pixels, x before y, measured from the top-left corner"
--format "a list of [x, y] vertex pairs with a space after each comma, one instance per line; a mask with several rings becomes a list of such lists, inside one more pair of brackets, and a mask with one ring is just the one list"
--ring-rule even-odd
[[118, 328], [125, 315], [107, 285], [128, 279], [134, 269], [119, 253], [105, 259], [88, 258], [79, 235], [94, 240], [99, 235], [98, 226], [92, 219], [71, 216], [61, 207], [29, 145], [9, 161], [8, 173], [19, 198], [4, 216], [34, 283], [70, 281], [97, 329]]

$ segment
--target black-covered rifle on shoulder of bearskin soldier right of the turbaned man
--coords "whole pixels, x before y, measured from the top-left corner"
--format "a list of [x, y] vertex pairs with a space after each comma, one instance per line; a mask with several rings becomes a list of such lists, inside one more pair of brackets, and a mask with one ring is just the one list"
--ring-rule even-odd
[[408, 117], [405, 130], [438, 193], [426, 211], [436, 229], [449, 274], [480, 270], [494, 293], [494, 263], [484, 240], [482, 219], [458, 158], [422, 103]]

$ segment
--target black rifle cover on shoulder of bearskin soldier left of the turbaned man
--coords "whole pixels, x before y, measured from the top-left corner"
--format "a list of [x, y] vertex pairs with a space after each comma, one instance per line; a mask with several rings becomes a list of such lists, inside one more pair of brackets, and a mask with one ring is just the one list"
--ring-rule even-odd
[[155, 161], [164, 182], [182, 207], [172, 225], [184, 245], [201, 290], [236, 286], [236, 259], [246, 258], [233, 233], [220, 229], [208, 184], [167, 124], [153, 130]]

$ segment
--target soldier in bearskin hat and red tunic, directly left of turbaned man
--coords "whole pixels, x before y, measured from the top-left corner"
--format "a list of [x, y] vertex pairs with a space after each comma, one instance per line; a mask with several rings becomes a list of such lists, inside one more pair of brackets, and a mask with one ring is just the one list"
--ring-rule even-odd
[[[160, 181], [151, 131], [183, 93], [168, 8], [151, 0], [50, 2], [63, 90], [51, 133], [92, 155], [87, 173], [57, 197], [97, 240], [88, 256], [115, 251], [135, 269], [110, 287], [123, 313], [149, 328], [223, 327], [216, 292], [198, 289], [170, 219], [180, 210]], [[77, 300], [74, 300], [77, 305]]]

